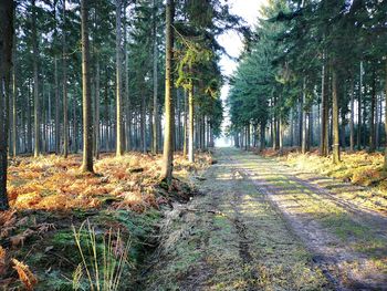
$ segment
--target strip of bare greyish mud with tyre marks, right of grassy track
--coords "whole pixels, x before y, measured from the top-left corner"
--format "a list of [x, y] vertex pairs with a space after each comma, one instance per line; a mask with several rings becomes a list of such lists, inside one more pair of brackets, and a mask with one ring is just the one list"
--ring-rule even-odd
[[[237, 164], [237, 160], [233, 157], [230, 157], [230, 159], [233, 160], [233, 164]], [[379, 280], [375, 282], [373, 280], [362, 280], [363, 278], [354, 278], [351, 273], [352, 270], [346, 269], [346, 262], [358, 261], [362, 264], [365, 260], [364, 256], [356, 253], [348, 248], [341, 247], [337, 239], [326, 232], [317, 221], [313, 220], [312, 217], [294, 216], [286, 211], [284, 207], [281, 207], [281, 201], [273, 198], [279, 190], [279, 186], [272, 187], [270, 181], [265, 180], [259, 174], [252, 173], [242, 165], [239, 166], [239, 170], [245, 179], [255, 185], [257, 189], [263, 195], [266, 201], [276, 209], [279, 215], [287, 222], [291, 231], [300, 238], [305, 247], [313, 253], [313, 262], [323, 271], [327, 280], [333, 283], [336, 290], [387, 290], [387, 283], [384, 279], [380, 280], [380, 278], [378, 278]], [[268, 170], [268, 167], [265, 170]], [[273, 174], [272, 170], [271, 174]], [[281, 172], [275, 174], [280, 176], [282, 175], [295, 184], [305, 187], [305, 185], [300, 183], [297, 178], [291, 179], [291, 177], [287, 177], [287, 175], [284, 175]], [[259, 180], [252, 179], [251, 177], [258, 177]], [[321, 194], [315, 188], [306, 188], [312, 193]], [[296, 188], [293, 186], [293, 189]], [[300, 188], [297, 189], [300, 190]], [[297, 202], [296, 199], [294, 199], [294, 202]]]

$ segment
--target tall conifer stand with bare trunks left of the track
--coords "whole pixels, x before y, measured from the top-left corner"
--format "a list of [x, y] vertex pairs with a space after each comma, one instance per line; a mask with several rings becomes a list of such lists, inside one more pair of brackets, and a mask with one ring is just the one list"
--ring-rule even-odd
[[11, 156], [64, 157], [83, 148], [84, 172], [93, 172], [101, 150], [163, 149], [160, 177], [170, 181], [174, 150], [194, 162], [195, 148], [213, 145], [222, 119], [216, 38], [244, 32], [222, 1], [7, 0], [0, 7], [9, 15], [0, 19], [7, 32], [1, 209], [8, 148]]

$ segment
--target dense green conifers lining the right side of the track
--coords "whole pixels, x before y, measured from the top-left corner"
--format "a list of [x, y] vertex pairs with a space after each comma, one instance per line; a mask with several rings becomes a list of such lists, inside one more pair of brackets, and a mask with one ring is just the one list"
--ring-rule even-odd
[[318, 145], [338, 163], [341, 147], [386, 143], [387, 2], [270, 0], [261, 14], [228, 98], [236, 145]]

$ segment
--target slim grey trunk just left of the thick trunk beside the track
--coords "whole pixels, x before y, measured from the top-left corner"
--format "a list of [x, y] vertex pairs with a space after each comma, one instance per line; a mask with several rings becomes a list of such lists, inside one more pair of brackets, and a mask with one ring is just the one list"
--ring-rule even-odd
[[154, 77], [154, 106], [153, 106], [153, 124], [151, 124], [151, 134], [153, 134], [153, 146], [151, 146], [151, 152], [153, 154], [157, 154], [158, 152], [158, 134], [157, 134], [157, 123], [158, 123], [158, 101], [157, 101], [157, 86], [158, 86], [158, 80], [157, 80], [157, 61], [158, 61], [158, 50], [157, 50], [157, 18], [156, 18], [156, 0], [153, 0], [153, 37], [154, 37], [154, 72], [153, 72], [153, 77]]

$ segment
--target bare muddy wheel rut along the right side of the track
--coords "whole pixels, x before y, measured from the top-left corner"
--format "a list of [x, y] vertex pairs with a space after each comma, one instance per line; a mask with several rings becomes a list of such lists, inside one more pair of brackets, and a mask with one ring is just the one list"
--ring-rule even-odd
[[[232, 157], [232, 160], [236, 159]], [[249, 159], [251, 162], [251, 159]], [[257, 160], [259, 163], [259, 160]], [[236, 164], [236, 163], [234, 163]], [[346, 247], [341, 242], [333, 233], [330, 233], [324, 229], [317, 219], [314, 219], [311, 215], [297, 215], [289, 210], [291, 207], [286, 202], [281, 201], [278, 198], [278, 193], [283, 190], [281, 186], [273, 186], [270, 180], [264, 178], [264, 175], [260, 175], [257, 170], [251, 170], [248, 167], [243, 167], [241, 163], [239, 172], [241, 175], [253, 183], [257, 189], [263, 194], [265, 199], [272, 205], [273, 208], [278, 209], [280, 215], [289, 222], [290, 228], [299, 237], [306, 248], [313, 253], [313, 262], [323, 271], [327, 280], [330, 280], [336, 290], [387, 290], [387, 278], [385, 274], [373, 274], [370, 268], [367, 264], [367, 257], [363, 253], [358, 253], [353, 249]], [[324, 198], [332, 198], [326, 191], [317, 188], [316, 186], [307, 185], [301, 179], [291, 175], [285, 175], [279, 172], [275, 166], [273, 169], [269, 165], [264, 165], [265, 172], [274, 172], [278, 175], [284, 175], [286, 178], [292, 180], [295, 185], [301, 185], [307, 188], [313, 194], [323, 195]], [[294, 186], [287, 186], [287, 189], [300, 190]], [[313, 199], [310, 197], [310, 199]], [[292, 207], [302, 207], [299, 205], [296, 199], [292, 200]], [[331, 199], [330, 199], [331, 200]], [[347, 205], [342, 205], [341, 201], [334, 200], [338, 206], [348, 209]], [[351, 208], [356, 214], [354, 208]], [[356, 209], [356, 208], [355, 208]], [[355, 212], [354, 212], [355, 211]], [[366, 212], [360, 212], [362, 215]], [[354, 219], [363, 225], [368, 225], [370, 221], [375, 221], [375, 217], [367, 216], [367, 220], [362, 220], [362, 216]], [[384, 218], [376, 218], [380, 222]], [[351, 269], [351, 263], [356, 263], [359, 271], [356, 273]]]

